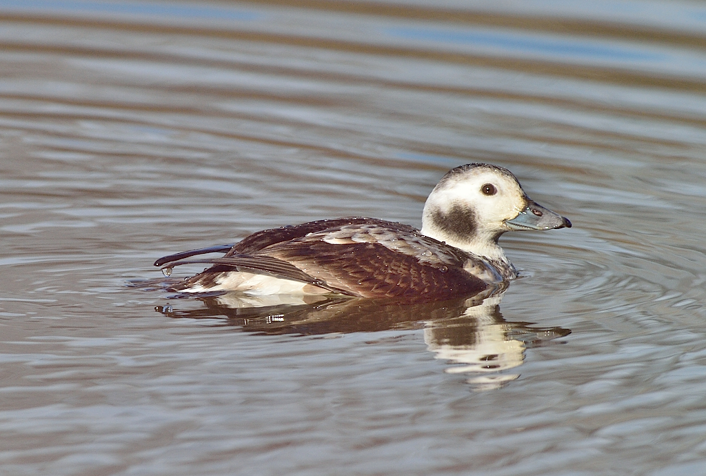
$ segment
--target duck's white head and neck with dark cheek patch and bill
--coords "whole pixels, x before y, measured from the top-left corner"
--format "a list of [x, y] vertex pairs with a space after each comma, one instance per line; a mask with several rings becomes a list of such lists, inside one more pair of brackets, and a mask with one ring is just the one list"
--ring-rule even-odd
[[508, 169], [489, 164], [461, 165], [445, 174], [426, 199], [421, 223], [422, 234], [513, 272], [498, 245], [501, 234], [571, 227], [569, 220], [532, 201]]

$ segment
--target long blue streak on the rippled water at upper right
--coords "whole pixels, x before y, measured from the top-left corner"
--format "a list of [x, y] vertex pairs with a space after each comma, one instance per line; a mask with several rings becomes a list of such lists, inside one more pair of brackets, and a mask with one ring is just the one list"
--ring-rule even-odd
[[568, 40], [513, 37], [511, 35], [491, 32], [452, 32], [426, 28], [388, 28], [386, 31], [390, 35], [408, 40], [432, 40], [436, 42], [474, 44], [503, 48], [515, 52], [525, 51], [623, 60], [659, 61], [664, 59], [664, 55], [662, 54], [637, 52], [625, 48], [585, 44]]

